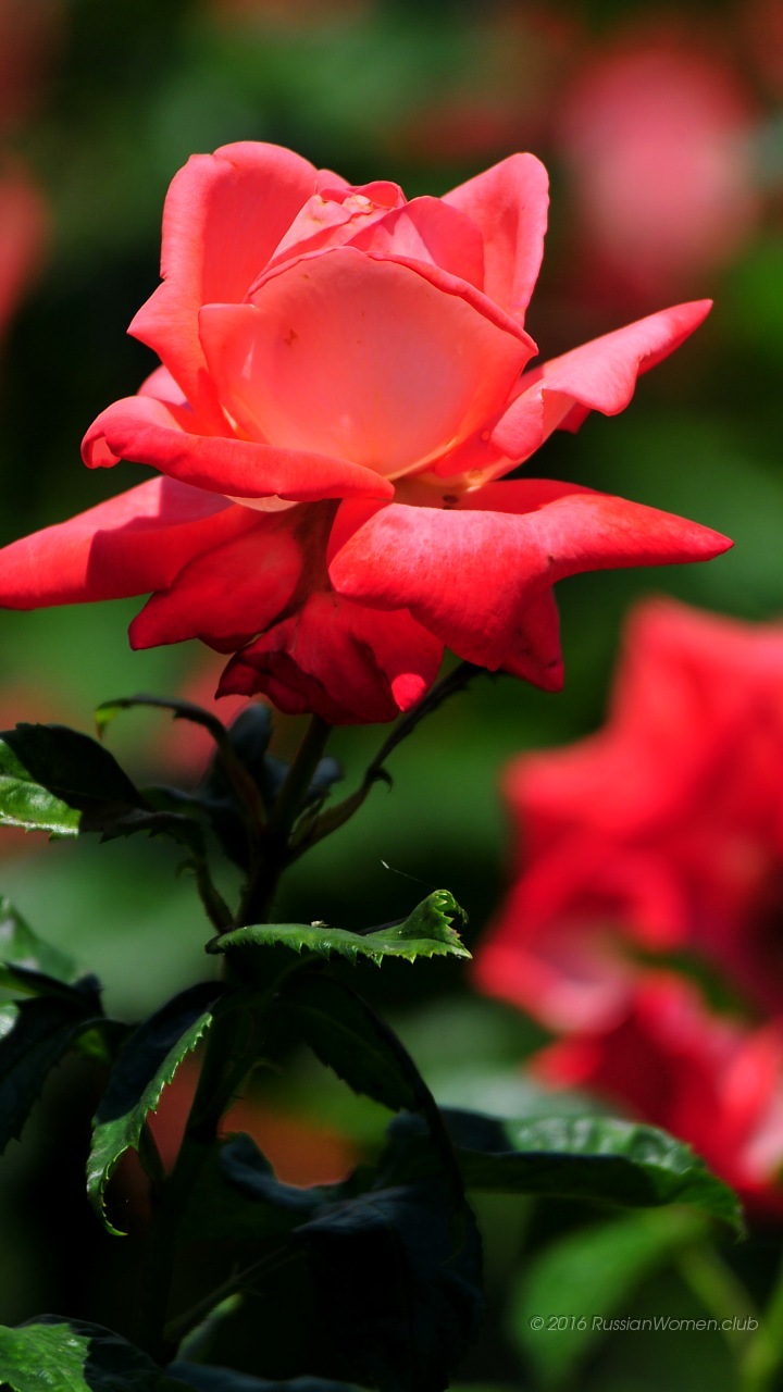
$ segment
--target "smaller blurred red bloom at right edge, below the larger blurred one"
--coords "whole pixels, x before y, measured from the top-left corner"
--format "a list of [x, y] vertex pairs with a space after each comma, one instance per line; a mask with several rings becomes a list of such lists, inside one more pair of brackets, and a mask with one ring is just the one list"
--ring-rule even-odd
[[559, 1040], [532, 1061], [553, 1087], [578, 1087], [685, 1140], [751, 1214], [783, 1217], [783, 1034], [713, 1015], [694, 987], [651, 972], [627, 1013]]

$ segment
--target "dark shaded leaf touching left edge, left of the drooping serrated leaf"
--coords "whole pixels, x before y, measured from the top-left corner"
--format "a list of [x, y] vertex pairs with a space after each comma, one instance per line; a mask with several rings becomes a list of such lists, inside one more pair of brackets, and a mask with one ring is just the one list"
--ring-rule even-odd
[[0, 1006], [0, 1151], [21, 1134], [56, 1063], [100, 1022], [100, 1002], [88, 990]]

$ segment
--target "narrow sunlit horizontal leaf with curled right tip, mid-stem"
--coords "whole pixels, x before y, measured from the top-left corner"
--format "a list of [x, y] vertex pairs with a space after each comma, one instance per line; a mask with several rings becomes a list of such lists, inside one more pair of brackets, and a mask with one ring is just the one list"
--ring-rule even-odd
[[365, 956], [378, 966], [385, 956], [398, 956], [407, 962], [414, 962], [418, 956], [470, 958], [471, 954], [451, 927], [454, 919], [464, 919], [458, 903], [447, 889], [436, 889], [403, 923], [385, 924], [365, 933], [348, 933], [346, 928], [318, 923], [263, 923], [213, 938], [208, 951], [283, 944], [294, 952], [318, 952], [325, 958], [336, 952], [350, 962]]

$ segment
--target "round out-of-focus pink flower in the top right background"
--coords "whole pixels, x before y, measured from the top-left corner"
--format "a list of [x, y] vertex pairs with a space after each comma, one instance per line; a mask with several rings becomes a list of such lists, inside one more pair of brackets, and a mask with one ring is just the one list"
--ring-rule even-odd
[[595, 57], [559, 131], [584, 238], [580, 269], [631, 299], [704, 284], [759, 219], [752, 121], [734, 68], [674, 25]]

